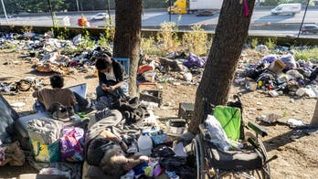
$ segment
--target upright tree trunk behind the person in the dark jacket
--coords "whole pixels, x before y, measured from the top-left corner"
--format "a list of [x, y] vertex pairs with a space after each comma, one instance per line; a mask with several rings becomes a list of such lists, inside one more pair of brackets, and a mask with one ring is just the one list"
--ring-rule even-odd
[[142, 27], [142, 0], [116, 0], [113, 57], [130, 58], [129, 94], [137, 94], [137, 68]]

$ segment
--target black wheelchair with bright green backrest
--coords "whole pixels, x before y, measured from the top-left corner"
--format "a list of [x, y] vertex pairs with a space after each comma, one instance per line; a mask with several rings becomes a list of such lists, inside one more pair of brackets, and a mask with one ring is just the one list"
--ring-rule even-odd
[[[236, 105], [240, 103], [239, 99], [238, 101]], [[213, 115], [228, 139], [241, 140], [244, 146], [241, 150], [221, 150], [210, 142], [213, 136], [208, 132], [206, 124], [199, 125], [199, 133], [192, 142], [196, 159], [196, 178], [270, 178], [269, 162], [277, 156], [268, 159], [266, 149], [260, 141], [259, 135], [266, 136], [267, 132], [252, 122], [241, 127], [241, 109], [239, 106], [217, 106], [213, 109]]]

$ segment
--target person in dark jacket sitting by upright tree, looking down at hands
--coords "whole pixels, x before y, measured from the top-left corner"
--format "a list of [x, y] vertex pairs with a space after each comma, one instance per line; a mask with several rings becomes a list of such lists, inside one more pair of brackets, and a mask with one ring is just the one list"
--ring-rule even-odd
[[102, 96], [112, 98], [112, 100], [128, 96], [122, 65], [118, 61], [103, 54], [97, 58], [95, 67], [99, 76], [99, 86], [96, 88], [97, 100]]

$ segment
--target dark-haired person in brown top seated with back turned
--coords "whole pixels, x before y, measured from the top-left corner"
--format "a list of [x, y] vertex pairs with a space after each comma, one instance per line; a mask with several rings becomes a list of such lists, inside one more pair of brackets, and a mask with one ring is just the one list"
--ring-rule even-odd
[[79, 94], [72, 92], [70, 89], [63, 89], [64, 79], [62, 76], [52, 75], [49, 80], [52, 89], [38, 89], [32, 94], [43, 105], [44, 111], [48, 111], [54, 103], [60, 103], [67, 108], [74, 107], [76, 111], [85, 110], [90, 107], [90, 101], [83, 99]]

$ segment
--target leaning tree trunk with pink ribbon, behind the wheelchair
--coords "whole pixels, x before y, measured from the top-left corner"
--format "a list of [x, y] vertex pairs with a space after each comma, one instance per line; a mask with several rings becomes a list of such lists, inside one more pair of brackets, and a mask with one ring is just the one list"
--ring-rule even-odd
[[[244, 0], [243, 0], [244, 2]], [[239, 0], [223, 1], [216, 34], [207, 58], [200, 85], [196, 90], [195, 115], [190, 132], [196, 133], [198, 124], [211, 111], [209, 104], [221, 105], [228, 100], [228, 91], [237, 68], [238, 58], [246, 38], [255, 0], [248, 0], [249, 15]]]

